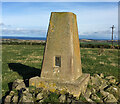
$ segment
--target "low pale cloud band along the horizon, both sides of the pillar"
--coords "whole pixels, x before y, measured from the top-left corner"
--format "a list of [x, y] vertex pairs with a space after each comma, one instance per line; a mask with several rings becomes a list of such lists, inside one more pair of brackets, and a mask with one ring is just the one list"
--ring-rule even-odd
[[[2, 23], [1, 25], [5, 25]], [[7, 26], [7, 25], [6, 25]], [[26, 36], [26, 37], [46, 37], [47, 29], [40, 28], [21, 28], [21, 27], [2, 27], [3, 36]], [[111, 39], [111, 29], [109, 30], [94, 30], [94, 31], [79, 31], [79, 37], [85, 39]], [[118, 38], [118, 29], [114, 30], [114, 39]]]

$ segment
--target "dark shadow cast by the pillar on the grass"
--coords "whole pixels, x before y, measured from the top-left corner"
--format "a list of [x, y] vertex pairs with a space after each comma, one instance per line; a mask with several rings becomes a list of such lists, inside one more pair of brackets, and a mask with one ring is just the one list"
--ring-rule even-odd
[[23, 65], [21, 63], [8, 63], [8, 67], [13, 71], [18, 72], [18, 74], [23, 77], [26, 86], [28, 86], [30, 78], [40, 76], [41, 74], [41, 69]]

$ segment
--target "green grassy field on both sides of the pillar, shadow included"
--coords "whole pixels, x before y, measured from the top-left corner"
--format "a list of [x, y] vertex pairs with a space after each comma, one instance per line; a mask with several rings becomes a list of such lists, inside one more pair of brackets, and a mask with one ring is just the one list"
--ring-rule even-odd
[[[81, 48], [82, 70], [84, 73], [104, 73], [118, 77], [118, 50], [100, 48]], [[26, 82], [40, 75], [43, 45], [2, 45], [2, 96], [5, 95], [15, 79]]]

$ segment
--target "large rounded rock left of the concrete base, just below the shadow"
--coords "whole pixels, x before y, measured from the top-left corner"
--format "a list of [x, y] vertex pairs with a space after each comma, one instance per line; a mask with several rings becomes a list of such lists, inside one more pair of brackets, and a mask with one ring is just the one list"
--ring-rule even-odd
[[20, 90], [21, 88], [26, 88], [24, 81], [22, 79], [15, 80], [12, 89]]

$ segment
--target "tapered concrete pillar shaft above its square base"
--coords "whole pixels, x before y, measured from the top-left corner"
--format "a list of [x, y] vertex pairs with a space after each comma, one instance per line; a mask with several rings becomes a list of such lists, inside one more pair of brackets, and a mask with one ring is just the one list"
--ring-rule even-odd
[[52, 12], [41, 77], [75, 80], [81, 75], [76, 15], [71, 12]]

